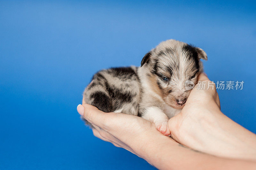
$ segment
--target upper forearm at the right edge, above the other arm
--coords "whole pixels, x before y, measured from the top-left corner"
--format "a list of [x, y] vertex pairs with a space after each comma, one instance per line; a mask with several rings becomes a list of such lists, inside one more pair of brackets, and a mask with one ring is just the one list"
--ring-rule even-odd
[[[224, 114], [215, 114], [212, 121], [211, 131], [209, 135], [214, 137], [215, 142], [209, 143], [209, 148], [218, 148], [212, 150], [213, 154], [229, 158], [243, 158], [256, 160], [256, 135], [240, 126]], [[206, 124], [204, 124], [207, 129]], [[208, 127], [209, 128], [209, 127]]]

